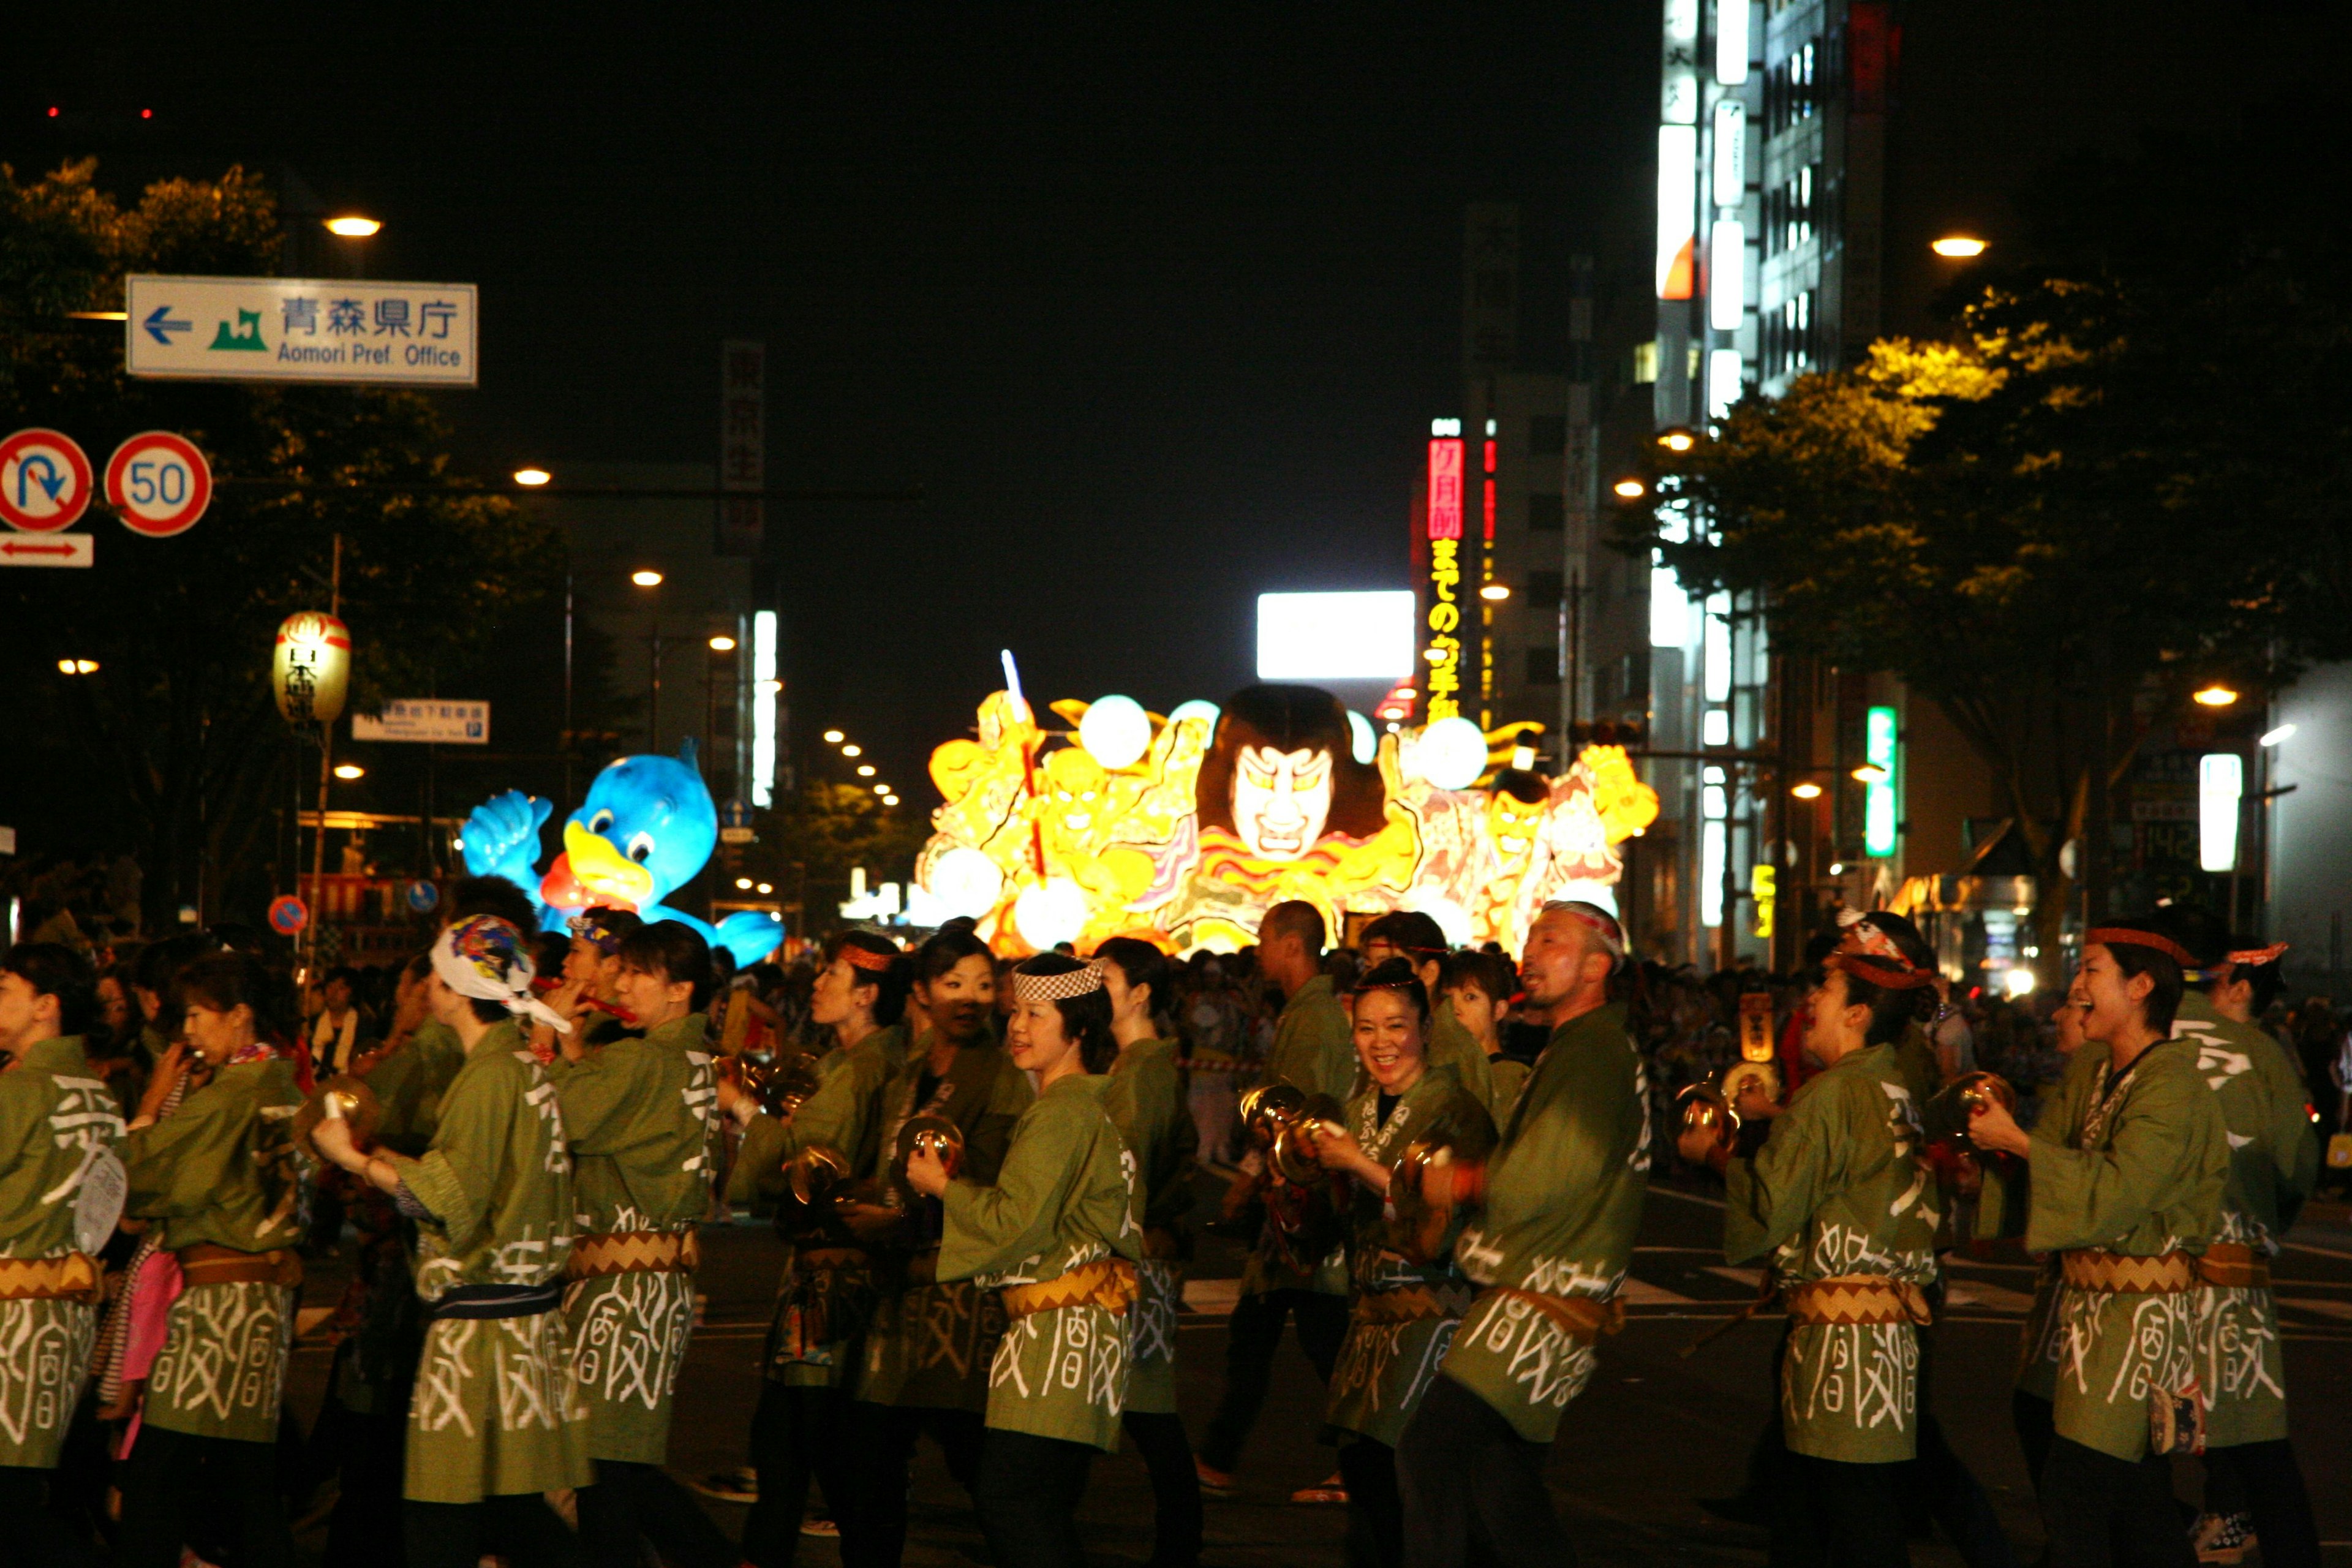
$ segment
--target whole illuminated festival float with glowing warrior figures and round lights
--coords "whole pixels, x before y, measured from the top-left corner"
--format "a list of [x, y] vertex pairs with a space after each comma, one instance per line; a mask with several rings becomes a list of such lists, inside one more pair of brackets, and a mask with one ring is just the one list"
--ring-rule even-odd
[[1454, 943], [1517, 952], [1550, 898], [1613, 907], [1616, 846], [1658, 816], [1621, 748], [1545, 778], [1503, 766], [1517, 738], [1468, 719], [1374, 736], [1315, 686], [1169, 715], [1131, 698], [1037, 715], [995, 691], [976, 738], [931, 752], [946, 804], [915, 914], [967, 914], [1000, 952], [1110, 936], [1232, 952], [1301, 898], [1334, 933], [1421, 910]]

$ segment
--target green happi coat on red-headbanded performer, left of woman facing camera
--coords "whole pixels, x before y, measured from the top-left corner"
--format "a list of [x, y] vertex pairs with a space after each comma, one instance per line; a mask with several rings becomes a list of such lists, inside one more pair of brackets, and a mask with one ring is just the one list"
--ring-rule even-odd
[[[783, 1197], [783, 1161], [807, 1147], [828, 1147], [849, 1161], [854, 1180], [882, 1168], [884, 1091], [906, 1067], [906, 1027], [875, 1030], [816, 1063], [816, 1093], [790, 1121], [760, 1114], [743, 1128], [727, 1199], [750, 1204]], [[811, 1232], [814, 1248], [795, 1244], [783, 1260], [783, 1284], [767, 1326], [760, 1366], [769, 1382], [835, 1387], [856, 1366], [856, 1340], [873, 1312], [873, 1272], [858, 1267], [811, 1267], [809, 1251], [847, 1251], [840, 1237]]]

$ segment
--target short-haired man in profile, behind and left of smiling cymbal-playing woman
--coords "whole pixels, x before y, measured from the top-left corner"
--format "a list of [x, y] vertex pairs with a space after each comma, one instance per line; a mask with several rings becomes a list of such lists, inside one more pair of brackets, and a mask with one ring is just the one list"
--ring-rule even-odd
[[[1324, 922], [1310, 903], [1277, 903], [1258, 924], [1258, 971], [1279, 985], [1284, 997], [1265, 1081], [1298, 1088], [1308, 1095], [1308, 1110], [1331, 1117], [1355, 1091], [1355, 1044], [1348, 1009], [1338, 1004], [1331, 976], [1322, 971], [1322, 947]], [[1242, 1175], [1225, 1194], [1225, 1213], [1240, 1213], [1265, 1180], [1263, 1166]], [[1242, 1265], [1242, 1295], [1225, 1321], [1225, 1394], [1209, 1418], [1195, 1465], [1200, 1483], [1211, 1493], [1232, 1490], [1232, 1469], [1272, 1380], [1282, 1319], [1296, 1321], [1298, 1349], [1317, 1375], [1331, 1382], [1331, 1361], [1348, 1335], [1348, 1258], [1336, 1246], [1329, 1258], [1291, 1258], [1289, 1241], [1268, 1213], [1258, 1246]], [[1338, 1488], [1327, 1483], [1305, 1488], [1296, 1500], [1341, 1497]]]

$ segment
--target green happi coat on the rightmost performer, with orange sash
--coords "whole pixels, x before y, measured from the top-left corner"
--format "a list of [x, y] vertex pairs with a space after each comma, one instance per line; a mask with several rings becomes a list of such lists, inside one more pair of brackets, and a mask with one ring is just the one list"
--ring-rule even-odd
[[[2180, 999], [2173, 1039], [2194, 1041], [2197, 1072], [2220, 1098], [2230, 1138], [2230, 1185], [2213, 1239], [2274, 1258], [2279, 1232], [2319, 1182], [2319, 1135], [2303, 1072], [2270, 1034], [2216, 1013], [2204, 992]], [[2209, 1446], [2286, 1436], [2286, 1366], [2270, 1286], [2197, 1286], [2197, 1380], [2213, 1401]]]

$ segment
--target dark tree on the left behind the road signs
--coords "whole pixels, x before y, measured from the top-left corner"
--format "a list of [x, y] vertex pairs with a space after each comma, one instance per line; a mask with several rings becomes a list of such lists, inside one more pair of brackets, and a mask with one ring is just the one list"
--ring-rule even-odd
[[[129, 378], [120, 329], [66, 313], [120, 310], [125, 273], [270, 273], [278, 214], [242, 169], [155, 183], [136, 207], [94, 174], [80, 162], [21, 183], [0, 169], [0, 416], [61, 428], [99, 461], [136, 430], [179, 430], [219, 489], [176, 538], [92, 522], [89, 571], [0, 574], [14, 628], [0, 715], [21, 745], [7, 788], [19, 820], [61, 842], [132, 849], [151, 926], [183, 903], [254, 919], [275, 811], [301, 788], [270, 701], [270, 637], [287, 614], [327, 607], [334, 541], [353, 710], [426, 691], [430, 670], [489, 646], [546, 592], [560, 541], [449, 470], [447, 430], [419, 395]], [[59, 658], [99, 672], [61, 679]]]

